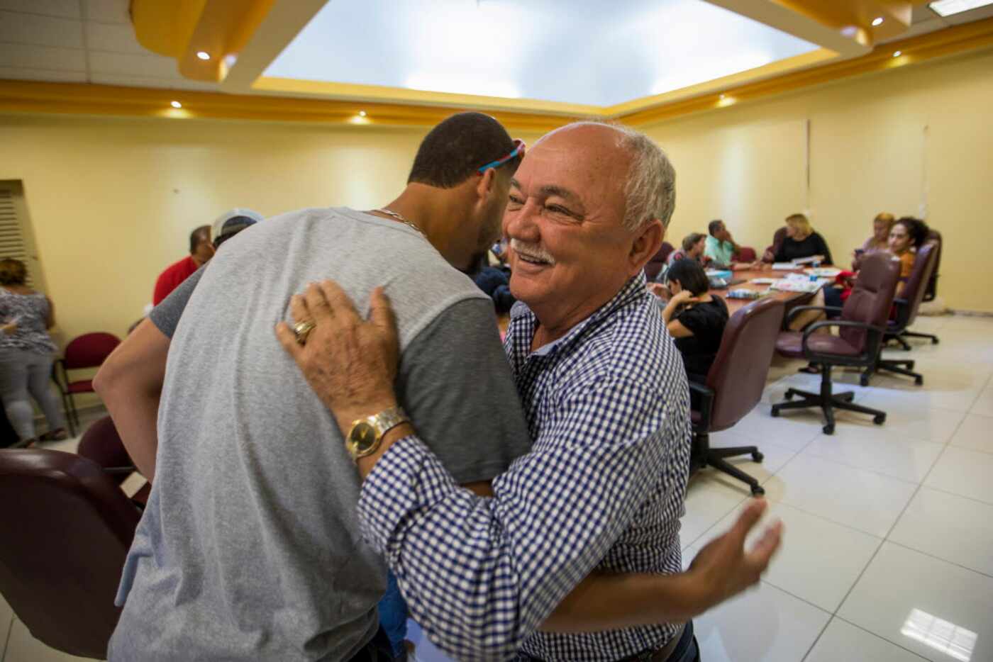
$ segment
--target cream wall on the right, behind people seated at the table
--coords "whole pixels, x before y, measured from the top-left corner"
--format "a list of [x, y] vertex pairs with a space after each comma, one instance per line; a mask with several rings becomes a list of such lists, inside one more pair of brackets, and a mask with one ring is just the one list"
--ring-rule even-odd
[[[993, 51], [642, 127], [677, 172], [669, 240], [723, 217], [761, 251], [809, 209], [847, 263], [888, 210], [944, 236], [940, 296], [993, 312]], [[809, 190], [806, 131], [809, 121]]]

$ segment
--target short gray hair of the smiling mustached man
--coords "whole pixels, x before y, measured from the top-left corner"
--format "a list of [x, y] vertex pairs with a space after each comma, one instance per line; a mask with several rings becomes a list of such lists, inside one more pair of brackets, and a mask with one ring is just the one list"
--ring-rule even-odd
[[618, 122], [588, 120], [576, 124], [601, 124], [621, 134], [620, 146], [631, 154], [625, 183], [624, 226], [635, 231], [657, 218], [668, 227], [676, 206], [676, 171], [655, 141]]

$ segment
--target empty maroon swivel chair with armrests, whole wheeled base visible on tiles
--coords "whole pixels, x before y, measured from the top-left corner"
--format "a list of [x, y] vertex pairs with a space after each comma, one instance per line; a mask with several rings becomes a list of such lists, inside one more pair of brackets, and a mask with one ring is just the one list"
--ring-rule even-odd
[[[833, 393], [831, 368], [836, 365], [868, 367], [879, 357], [883, 336], [887, 331], [890, 308], [900, 278], [900, 262], [889, 253], [872, 253], [862, 262], [852, 293], [843, 308], [830, 306], [798, 306], [789, 312], [791, 320], [802, 311], [821, 310], [841, 312], [838, 320], [815, 322], [803, 331], [782, 331], [776, 350], [790, 358], [805, 358], [820, 366], [820, 393], [790, 388], [786, 402], [773, 405], [773, 416], [784, 409], [820, 407], [824, 413], [825, 435], [834, 434], [834, 410], [846, 409], [873, 416], [873, 423], [883, 425], [886, 412], [856, 405], [851, 391]], [[787, 320], [787, 324], [788, 324]], [[815, 333], [818, 329], [837, 327], [838, 335]], [[800, 399], [791, 401], [794, 396]]]

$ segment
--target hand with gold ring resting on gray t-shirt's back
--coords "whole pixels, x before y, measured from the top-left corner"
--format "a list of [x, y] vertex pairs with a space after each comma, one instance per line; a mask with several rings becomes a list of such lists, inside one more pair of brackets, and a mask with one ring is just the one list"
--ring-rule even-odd
[[311, 283], [290, 300], [295, 323], [314, 328], [302, 344], [285, 322], [276, 336], [307, 383], [348, 432], [355, 419], [396, 405], [393, 381], [399, 356], [396, 320], [382, 288], [372, 291], [369, 317], [362, 320], [334, 281]]

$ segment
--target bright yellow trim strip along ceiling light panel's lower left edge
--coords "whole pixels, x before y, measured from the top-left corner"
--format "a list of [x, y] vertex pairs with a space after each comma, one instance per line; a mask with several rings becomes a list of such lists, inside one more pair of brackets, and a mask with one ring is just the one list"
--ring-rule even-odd
[[452, 94], [432, 92], [406, 87], [386, 85], [365, 85], [349, 82], [327, 82], [302, 78], [279, 78], [263, 76], [252, 84], [252, 89], [279, 94], [303, 94], [314, 97], [334, 98], [348, 101], [383, 101], [442, 105], [465, 108], [502, 109], [522, 112], [539, 112], [556, 115], [606, 115], [607, 108], [580, 103], [562, 103], [540, 99], [511, 99], [497, 96], [474, 94]]

